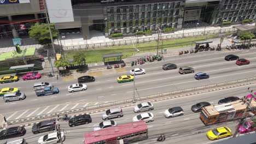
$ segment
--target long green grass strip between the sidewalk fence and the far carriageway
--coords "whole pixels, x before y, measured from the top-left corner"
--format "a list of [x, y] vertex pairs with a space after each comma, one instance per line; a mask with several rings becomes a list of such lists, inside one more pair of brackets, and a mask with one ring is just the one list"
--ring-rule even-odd
[[[194, 41], [201, 41], [205, 39], [210, 38], [217, 38], [218, 35], [207, 35], [207, 36], [201, 36], [201, 37], [193, 37], [193, 38], [184, 38], [184, 39], [168, 39], [165, 40], [163, 43], [163, 48], [167, 49], [176, 49], [181, 47], [181, 45], [191, 45], [194, 44]], [[121, 45], [121, 46], [111, 46], [111, 47], [101, 47], [99, 49], [94, 50], [81, 50], [81, 51], [71, 51], [67, 52], [67, 58], [73, 58], [76, 52], [83, 52], [85, 53], [86, 57], [86, 63], [99, 63], [103, 62], [102, 55], [108, 54], [108, 53], [118, 53], [122, 52], [123, 57], [122, 59], [126, 57], [131, 57], [133, 55], [133, 52], [135, 54], [137, 53], [143, 53], [143, 52], [149, 52], [149, 51], [156, 51], [157, 49], [157, 41], [151, 42], [151, 43], [141, 43], [141, 44], [135, 44], [134, 46], [139, 49], [139, 52], [135, 52], [135, 49], [132, 45]], [[106, 58], [106, 61], [117, 61], [117, 58]]]

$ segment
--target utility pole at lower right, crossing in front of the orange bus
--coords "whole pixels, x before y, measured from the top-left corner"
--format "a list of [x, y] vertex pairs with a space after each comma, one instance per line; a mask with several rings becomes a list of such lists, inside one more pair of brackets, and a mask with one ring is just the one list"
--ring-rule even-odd
[[245, 98], [243, 98], [243, 100], [245, 100], [245, 103], [247, 104], [247, 106], [246, 106], [245, 111], [243, 112], [243, 116], [242, 116], [242, 118], [240, 119], [240, 122], [239, 122], [239, 124], [238, 124], [238, 127], [236, 127], [235, 134], [233, 135], [232, 138], [235, 138], [235, 137], [236, 137], [236, 135], [237, 135], [237, 133], [238, 133], [238, 129], [240, 128], [241, 125], [243, 125], [243, 124], [245, 123], [245, 120], [246, 120], [246, 118], [247, 118], [246, 112], [247, 112], [247, 110], [249, 109], [249, 107], [250, 107], [250, 105], [251, 105], [251, 103], [252, 103], [252, 99], [253, 99], [254, 97], [256, 97], [256, 95], [255, 95], [252, 91], [249, 91], [249, 87], [248, 87], [247, 91], [248, 91], [249, 93], [251, 93], [252, 96], [251, 96], [251, 99], [248, 101], [248, 103], [246, 103], [247, 100], [246, 100]]

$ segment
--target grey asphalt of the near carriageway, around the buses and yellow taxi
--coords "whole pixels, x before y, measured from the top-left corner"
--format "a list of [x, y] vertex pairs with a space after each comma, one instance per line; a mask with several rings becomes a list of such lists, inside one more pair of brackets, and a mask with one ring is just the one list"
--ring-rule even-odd
[[[256, 85], [250, 85], [252, 89], [256, 90]], [[205, 126], [200, 118], [199, 113], [192, 112], [191, 105], [199, 103], [201, 101], [208, 101], [212, 105], [218, 104], [218, 100], [224, 97], [236, 96], [242, 98], [247, 95], [248, 92], [246, 88], [248, 86], [242, 86], [237, 88], [223, 89], [215, 92], [208, 92], [203, 94], [190, 95], [187, 97], [181, 97], [176, 99], [168, 99], [162, 101], [156, 101], [154, 104], [154, 110], [150, 111], [154, 114], [155, 121], [147, 123], [148, 125], [148, 133], [149, 139], [136, 142], [136, 143], [156, 143], [156, 137], [160, 133], [164, 133], [166, 135], [166, 140], [161, 143], [176, 143], [176, 144], [185, 144], [185, 143], [211, 143], [212, 141], [208, 140], [206, 137], [206, 131], [217, 128], [227, 126], [232, 130], [232, 134], [234, 134], [235, 126], [237, 125], [237, 121], [229, 121], [214, 125]], [[146, 102], [146, 101], [139, 101]], [[164, 111], [168, 109], [168, 107], [173, 106], [181, 106], [184, 110], [183, 116], [177, 116], [173, 118], [165, 118]], [[114, 121], [117, 121], [118, 124], [122, 123], [130, 123], [132, 122], [132, 117], [138, 115], [132, 111], [133, 107], [125, 107], [123, 109], [124, 117], [115, 118]], [[79, 125], [77, 127], [70, 128], [67, 122], [60, 122], [60, 127], [63, 130], [67, 131], [66, 140], [63, 143], [82, 143], [84, 132], [92, 131], [92, 126], [96, 123], [102, 122], [101, 113], [94, 113], [91, 115], [92, 123]], [[31, 132], [32, 126], [26, 127], [27, 133], [22, 136], [26, 139], [28, 144], [36, 144], [37, 140], [40, 136], [48, 134], [39, 133], [32, 134]], [[16, 137], [9, 140], [19, 139], [20, 137]], [[0, 143], [5, 142], [6, 140], [0, 141]], [[221, 140], [217, 140], [221, 141]], [[216, 141], [213, 141], [216, 142]]]

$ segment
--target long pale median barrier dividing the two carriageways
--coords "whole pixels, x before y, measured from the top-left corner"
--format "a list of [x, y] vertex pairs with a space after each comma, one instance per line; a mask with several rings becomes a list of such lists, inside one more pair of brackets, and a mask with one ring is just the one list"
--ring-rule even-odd
[[[234, 85], [236, 83], [255, 81], [255, 80], [256, 80], [256, 77], [251, 77], [251, 78], [248, 78], [248, 79], [241, 79], [241, 80], [216, 83], [216, 84], [207, 85], [207, 86], [201, 86], [201, 87], [193, 87], [193, 88], [181, 89], [181, 90], [178, 90], [178, 91], [172, 91], [172, 92], [165, 92], [165, 93], [147, 95], [147, 96], [144, 96], [144, 97], [136, 98], [136, 101], [138, 101], [138, 100], [146, 100], [146, 99], [154, 99], [154, 98], [160, 98], [160, 97], [166, 97], [166, 96], [174, 95], [174, 94], [200, 91], [200, 90], [203, 90], [203, 89], [214, 88], [214, 87], [222, 87], [222, 86], [228, 86], [228, 85]], [[22, 118], [22, 119], [15, 119], [15, 120], [8, 121], [8, 125], [17, 124], [17, 123], [24, 123], [24, 122], [31, 122], [31, 121], [36, 121], [38, 119], [44, 119], [44, 118], [53, 118], [53, 117], [56, 117], [58, 115], [61, 116], [64, 113], [68, 113], [68, 114], [69, 113], [77, 113], [77, 112], [84, 112], [84, 111], [89, 111], [89, 110], [94, 110], [94, 109], [100, 109], [100, 108], [108, 107], [108, 106], [129, 104], [129, 103], [132, 103], [132, 101], [133, 101], [133, 99], [126, 99], [126, 100], [120, 100], [120, 101], [112, 101], [110, 103], [100, 104], [100, 105], [93, 105], [93, 106], [88, 106], [88, 107], [82, 107], [80, 109], [61, 111], [61, 112], [57, 112], [57, 113], [54, 112], [54, 113], [50, 113], [50, 114], [47, 114], [47, 115], [40, 115], [40, 116], [36, 116], [36, 117], [27, 117], [27, 118]], [[101, 111], [103, 111], [103, 110], [101, 110]]]

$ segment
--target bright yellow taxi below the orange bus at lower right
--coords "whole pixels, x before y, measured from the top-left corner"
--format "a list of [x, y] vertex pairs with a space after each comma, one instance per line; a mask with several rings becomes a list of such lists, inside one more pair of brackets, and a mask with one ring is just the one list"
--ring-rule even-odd
[[219, 127], [219, 128], [207, 131], [206, 136], [211, 141], [217, 140], [217, 139], [223, 139], [225, 137], [231, 136], [231, 130], [228, 127]]

